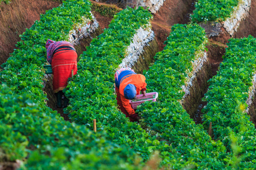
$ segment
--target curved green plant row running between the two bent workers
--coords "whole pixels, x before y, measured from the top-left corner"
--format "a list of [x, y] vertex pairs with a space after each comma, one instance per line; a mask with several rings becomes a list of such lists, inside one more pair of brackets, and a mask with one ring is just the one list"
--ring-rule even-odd
[[156, 150], [166, 151], [166, 155], [160, 155], [168, 163], [169, 156], [177, 154], [175, 150], [118, 111], [114, 94], [114, 73], [128, 55], [126, 49], [137, 30], [147, 28], [151, 19], [150, 12], [142, 7], [126, 8], [114, 16], [109, 28], [81, 54], [77, 75], [65, 89], [70, 105], [64, 113], [90, 129], [96, 119], [97, 129], [106, 130], [110, 141], [133, 148], [144, 160]]

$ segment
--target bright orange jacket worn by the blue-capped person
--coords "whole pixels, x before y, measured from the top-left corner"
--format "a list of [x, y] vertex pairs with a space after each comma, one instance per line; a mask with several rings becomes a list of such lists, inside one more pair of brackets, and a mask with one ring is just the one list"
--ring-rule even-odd
[[130, 100], [125, 98], [125, 94], [123, 91], [125, 90], [125, 87], [127, 84], [134, 84], [136, 87], [137, 95], [139, 95], [139, 92], [142, 90], [142, 88], [146, 88], [147, 83], [145, 82], [146, 78], [142, 74], [135, 74], [131, 75], [125, 79], [122, 80], [119, 86], [119, 93], [121, 96], [123, 107], [126, 109], [127, 113], [129, 115], [135, 114], [134, 109], [130, 105]]

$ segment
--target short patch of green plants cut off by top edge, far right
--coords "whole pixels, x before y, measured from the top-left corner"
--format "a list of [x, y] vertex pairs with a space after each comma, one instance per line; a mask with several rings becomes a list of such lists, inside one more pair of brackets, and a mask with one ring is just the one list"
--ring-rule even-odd
[[195, 4], [195, 10], [191, 15], [192, 22], [221, 22], [229, 18], [239, 0], [199, 0]]

